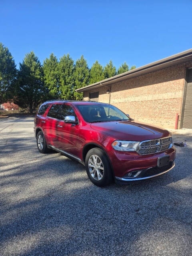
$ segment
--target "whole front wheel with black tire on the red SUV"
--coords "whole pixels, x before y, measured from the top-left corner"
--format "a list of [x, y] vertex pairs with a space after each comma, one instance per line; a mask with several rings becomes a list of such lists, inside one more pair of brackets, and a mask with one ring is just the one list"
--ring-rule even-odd
[[100, 148], [92, 148], [88, 151], [85, 167], [90, 181], [96, 186], [103, 187], [112, 183], [110, 163], [105, 152]]

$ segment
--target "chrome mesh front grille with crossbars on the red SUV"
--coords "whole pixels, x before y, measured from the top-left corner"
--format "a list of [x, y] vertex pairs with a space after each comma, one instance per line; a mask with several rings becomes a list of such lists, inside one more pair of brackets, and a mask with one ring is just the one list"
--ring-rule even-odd
[[138, 154], [148, 155], [165, 151], [172, 147], [172, 137], [166, 137], [154, 140], [144, 140], [138, 146]]

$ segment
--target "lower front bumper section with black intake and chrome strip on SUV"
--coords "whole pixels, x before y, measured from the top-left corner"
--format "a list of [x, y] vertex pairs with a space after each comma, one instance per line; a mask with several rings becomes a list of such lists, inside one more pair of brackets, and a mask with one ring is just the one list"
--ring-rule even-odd
[[127, 183], [127, 182], [133, 182], [133, 181], [147, 180], [147, 179], [162, 175], [166, 172], [169, 172], [172, 168], [174, 168], [174, 166], [175, 166], [175, 162], [170, 161], [170, 163], [166, 166], [162, 166], [162, 167], [154, 166], [154, 167], [141, 170], [137, 178], [115, 177], [115, 179], [117, 183], [121, 183], [121, 184]]

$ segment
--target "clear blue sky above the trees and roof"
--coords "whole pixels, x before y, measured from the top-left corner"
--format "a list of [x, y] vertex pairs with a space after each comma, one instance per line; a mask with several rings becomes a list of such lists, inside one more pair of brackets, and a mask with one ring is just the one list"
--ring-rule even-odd
[[53, 52], [139, 67], [192, 48], [191, 24], [192, 0], [0, 0], [0, 42], [16, 64], [33, 50], [42, 63]]

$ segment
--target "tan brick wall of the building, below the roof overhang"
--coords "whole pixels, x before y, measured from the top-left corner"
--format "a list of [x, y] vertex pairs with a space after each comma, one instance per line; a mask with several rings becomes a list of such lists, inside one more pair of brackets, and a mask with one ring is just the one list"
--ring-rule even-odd
[[[176, 113], [181, 114], [185, 73], [183, 64], [111, 84], [110, 104], [140, 122], [174, 128]], [[107, 90], [89, 92], [99, 91], [99, 102], [109, 103]], [[84, 92], [84, 100], [89, 100], [89, 92]]]

